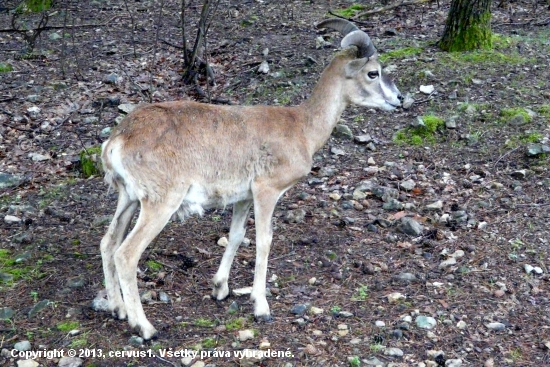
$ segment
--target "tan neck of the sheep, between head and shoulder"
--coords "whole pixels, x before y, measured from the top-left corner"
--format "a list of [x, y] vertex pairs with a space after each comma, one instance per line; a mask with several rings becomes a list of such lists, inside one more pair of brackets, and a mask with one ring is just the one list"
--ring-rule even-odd
[[331, 62], [322, 73], [309, 99], [300, 106], [307, 121], [306, 139], [312, 156], [328, 140], [348, 105], [342, 91], [342, 61]]

